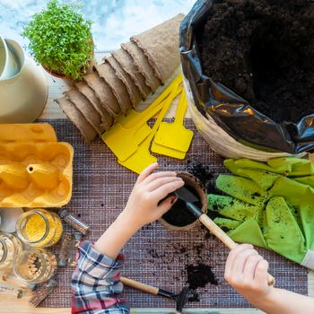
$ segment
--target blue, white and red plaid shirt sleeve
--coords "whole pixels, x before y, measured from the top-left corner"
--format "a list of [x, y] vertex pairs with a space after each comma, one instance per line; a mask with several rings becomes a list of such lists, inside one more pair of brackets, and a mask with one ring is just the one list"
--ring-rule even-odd
[[118, 298], [123, 289], [119, 276], [124, 260], [123, 255], [113, 260], [100, 254], [89, 241], [80, 244], [77, 267], [72, 276], [73, 314], [129, 313], [126, 301]]

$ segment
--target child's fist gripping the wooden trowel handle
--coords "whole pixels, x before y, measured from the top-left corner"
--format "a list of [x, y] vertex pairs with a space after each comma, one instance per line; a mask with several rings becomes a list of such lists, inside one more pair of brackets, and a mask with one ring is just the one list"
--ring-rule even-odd
[[274, 288], [267, 283], [268, 263], [250, 244], [232, 249], [226, 262], [225, 280], [250, 302], [265, 298]]

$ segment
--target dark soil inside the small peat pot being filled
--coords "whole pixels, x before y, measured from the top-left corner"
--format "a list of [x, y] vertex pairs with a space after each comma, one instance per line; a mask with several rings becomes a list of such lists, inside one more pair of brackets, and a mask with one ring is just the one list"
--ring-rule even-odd
[[[198, 199], [199, 196], [196, 192], [196, 190], [188, 185], [185, 186], [185, 188], [188, 188], [188, 190], [193, 193]], [[197, 201], [194, 203], [198, 208], [202, 208], [201, 201]], [[181, 199], [178, 199], [178, 201], [170, 208], [170, 210], [162, 216], [162, 218], [177, 227], [183, 227], [187, 226], [188, 224], [196, 221], [196, 216], [189, 212], [186, 203], [182, 201]]]

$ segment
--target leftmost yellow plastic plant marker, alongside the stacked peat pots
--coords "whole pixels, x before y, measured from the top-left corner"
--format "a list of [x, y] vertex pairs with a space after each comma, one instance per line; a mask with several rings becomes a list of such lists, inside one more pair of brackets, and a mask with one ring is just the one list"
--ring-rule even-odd
[[147, 125], [147, 121], [161, 111], [164, 106], [163, 100], [174, 89], [177, 92], [177, 86], [181, 82], [182, 75], [179, 74], [165, 91], [153, 101], [149, 108], [139, 113], [134, 111], [131, 113], [130, 118], [128, 116], [122, 118], [122, 123], [127, 128], [117, 123], [101, 136], [119, 161], [126, 161], [129, 156], [136, 152], [138, 144], [141, 144], [151, 134], [152, 129]]

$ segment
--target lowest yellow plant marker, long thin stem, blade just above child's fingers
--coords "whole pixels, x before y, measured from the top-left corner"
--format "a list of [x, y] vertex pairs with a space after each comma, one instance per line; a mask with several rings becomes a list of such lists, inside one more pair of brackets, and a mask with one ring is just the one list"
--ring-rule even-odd
[[126, 161], [118, 161], [119, 164], [125, 166], [127, 169], [135, 171], [136, 173], [141, 173], [147, 166], [157, 161], [157, 158], [153, 156], [150, 151], [150, 145], [153, 140], [153, 136], [156, 134], [161, 121], [166, 115], [172, 101], [176, 98], [179, 92], [182, 91], [182, 87], [179, 87], [179, 83], [176, 86], [176, 89], [173, 89], [170, 93], [170, 96], [164, 100], [164, 106], [161, 109], [155, 124], [153, 125], [152, 133], [145, 138], [144, 142], [138, 147], [138, 150], [132, 154]]

